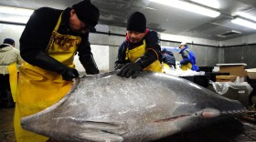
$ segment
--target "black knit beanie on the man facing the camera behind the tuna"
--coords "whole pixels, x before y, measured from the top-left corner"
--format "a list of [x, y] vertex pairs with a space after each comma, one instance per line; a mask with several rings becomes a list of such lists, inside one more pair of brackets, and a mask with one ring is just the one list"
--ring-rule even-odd
[[146, 29], [146, 19], [144, 14], [134, 12], [132, 15], [130, 15], [129, 19], [127, 20], [126, 29], [128, 31], [144, 33]]

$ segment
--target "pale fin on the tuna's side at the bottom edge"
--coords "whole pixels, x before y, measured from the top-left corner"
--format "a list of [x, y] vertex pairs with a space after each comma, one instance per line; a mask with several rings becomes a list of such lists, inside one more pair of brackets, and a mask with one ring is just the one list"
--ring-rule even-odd
[[80, 138], [89, 141], [123, 141], [123, 137], [121, 136], [95, 129], [87, 129], [86, 131], [80, 132]]

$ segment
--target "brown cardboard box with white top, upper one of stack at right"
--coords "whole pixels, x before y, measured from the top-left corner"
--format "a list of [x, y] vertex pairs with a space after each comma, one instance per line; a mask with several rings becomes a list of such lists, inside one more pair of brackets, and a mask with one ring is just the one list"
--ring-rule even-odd
[[246, 64], [217, 64], [219, 73], [229, 73], [230, 76], [247, 76]]

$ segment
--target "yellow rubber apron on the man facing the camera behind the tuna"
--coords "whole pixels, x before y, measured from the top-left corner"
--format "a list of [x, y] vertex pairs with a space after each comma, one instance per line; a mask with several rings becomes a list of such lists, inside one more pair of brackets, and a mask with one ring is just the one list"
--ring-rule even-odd
[[[127, 47], [125, 59], [126, 60], [129, 59], [131, 62], [134, 63], [139, 57], [143, 56], [144, 53], [145, 53], [145, 40], [142, 46], [137, 46], [132, 50], [129, 50]], [[146, 66], [144, 70], [162, 72], [162, 67], [159, 60], [155, 60], [155, 62], [153, 62], [151, 65]]]

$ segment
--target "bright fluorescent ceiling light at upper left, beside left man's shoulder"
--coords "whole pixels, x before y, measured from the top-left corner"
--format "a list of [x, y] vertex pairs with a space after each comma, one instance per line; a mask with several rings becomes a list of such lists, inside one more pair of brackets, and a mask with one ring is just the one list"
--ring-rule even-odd
[[32, 15], [34, 10], [0, 5], [0, 13], [10, 15]]

